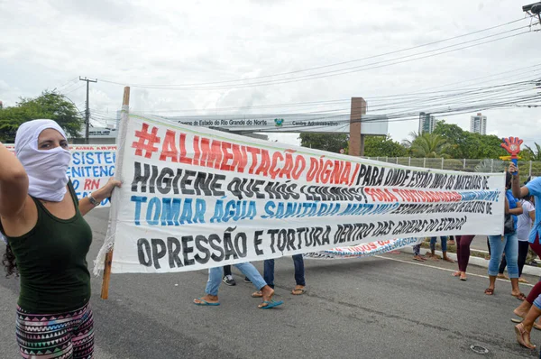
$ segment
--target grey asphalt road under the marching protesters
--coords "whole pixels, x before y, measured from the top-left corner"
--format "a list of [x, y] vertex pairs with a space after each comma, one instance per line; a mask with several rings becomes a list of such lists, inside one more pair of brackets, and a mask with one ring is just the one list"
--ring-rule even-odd
[[[87, 216], [95, 230], [89, 261], [103, 243], [106, 216], [106, 209]], [[96, 358], [480, 357], [471, 345], [490, 351], [482, 357], [539, 355], [515, 341], [509, 319], [518, 300], [509, 295], [509, 282], [499, 281], [494, 297], [483, 294], [485, 269], [472, 267], [463, 282], [451, 276], [453, 264], [418, 265], [407, 254], [305, 262], [309, 290], [301, 297], [289, 294], [291, 259], [276, 262], [285, 305], [271, 310], [256, 307], [253, 288], [240, 275], [236, 287], [222, 286], [216, 308], [191, 304], [203, 294], [205, 271], [114, 275], [106, 301], [99, 299], [101, 280], [93, 278]], [[0, 278], [1, 358], [17, 357], [17, 287]], [[541, 333], [532, 340], [541, 345]]]

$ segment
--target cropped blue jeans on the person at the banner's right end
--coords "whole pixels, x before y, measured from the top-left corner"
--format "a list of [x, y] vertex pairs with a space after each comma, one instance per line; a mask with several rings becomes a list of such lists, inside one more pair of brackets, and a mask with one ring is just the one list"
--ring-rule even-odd
[[489, 262], [489, 275], [498, 275], [501, 256], [505, 253], [508, 264], [509, 278], [518, 278], [518, 237], [517, 232], [503, 235], [489, 235], [491, 243], [491, 262]]

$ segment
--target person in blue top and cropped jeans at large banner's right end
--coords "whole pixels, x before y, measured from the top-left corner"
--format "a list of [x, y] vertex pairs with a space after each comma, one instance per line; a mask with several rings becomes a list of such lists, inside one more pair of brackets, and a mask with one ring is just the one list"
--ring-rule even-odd
[[518, 289], [518, 239], [517, 239], [517, 215], [522, 213], [522, 206], [511, 193], [511, 178], [509, 172], [506, 173], [505, 181], [505, 230], [503, 235], [489, 235], [491, 243], [491, 261], [489, 262], [489, 288], [485, 294], [494, 294], [496, 278], [500, 268], [501, 256], [505, 253], [508, 259], [508, 272], [511, 280], [511, 295], [520, 300], [525, 300], [526, 296]]

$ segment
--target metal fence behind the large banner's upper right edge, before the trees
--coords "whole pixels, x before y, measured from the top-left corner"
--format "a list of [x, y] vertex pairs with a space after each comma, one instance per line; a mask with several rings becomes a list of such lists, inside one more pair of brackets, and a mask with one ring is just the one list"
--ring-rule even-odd
[[[500, 172], [505, 170], [509, 161], [471, 160], [414, 157], [365, 157], [369, 160], [401, 164], [403, 166], [423, 167], [427, 169], [460, 170], [465, 172]], [[518, 161], [520, 177], [541, 176], [541, 161]]]

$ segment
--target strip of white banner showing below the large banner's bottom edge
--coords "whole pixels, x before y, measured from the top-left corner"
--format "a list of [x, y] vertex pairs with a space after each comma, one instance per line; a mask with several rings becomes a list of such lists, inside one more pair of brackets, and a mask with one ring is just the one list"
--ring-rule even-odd
[[328, 251], [305, 253], [305, 258], [316, 259], [345, 259], [345, 258], [363, 258], [388, 253], [400, 248], [422, 244], [425, 237], [397, 238], [389, 241], [376, 241], [367, 244], [358, 244], [351, 247], [337, 247]]

